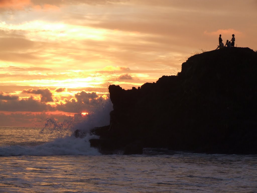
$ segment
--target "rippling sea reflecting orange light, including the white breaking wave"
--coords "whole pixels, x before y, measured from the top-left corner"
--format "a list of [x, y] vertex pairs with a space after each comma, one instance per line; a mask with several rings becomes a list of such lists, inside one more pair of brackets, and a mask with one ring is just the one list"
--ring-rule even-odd
[[96, 136], [40, 131], [0, 127], [0, 192], [257, 192], [257, 155], [101, 155]]

